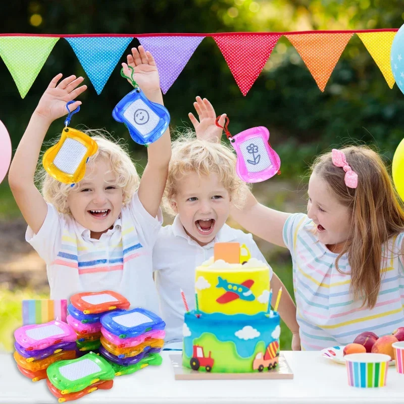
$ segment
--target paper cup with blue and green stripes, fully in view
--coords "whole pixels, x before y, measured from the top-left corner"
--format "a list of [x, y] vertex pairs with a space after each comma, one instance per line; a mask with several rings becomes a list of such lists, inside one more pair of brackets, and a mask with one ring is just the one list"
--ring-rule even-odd
[[354, 387], [383, 387], [386, 385], [388, 362], [384, 354], [349, 354], [344, 356], [348, 384]]

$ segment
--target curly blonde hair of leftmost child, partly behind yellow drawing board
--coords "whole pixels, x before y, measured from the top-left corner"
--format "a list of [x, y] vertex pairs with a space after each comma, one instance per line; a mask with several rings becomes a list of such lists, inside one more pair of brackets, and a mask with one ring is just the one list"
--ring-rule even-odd
[[[116, 177], [116, 184], [123, 189], [123, 205], [127, 205], [136, 192], [140, 178], [126, 147], [121, 140], [115, 140], [110, 133], [103, 129], [85, 129], [85, 134], [97, 143], [98, 150], [88, 160], [87, 166], [96, 163], [99, 159], [106, 160]], [[59, 139], [58, 139], [59, 141]], [[57, 142], [54, 142], [56, 144]], [[40, 159], [39, 169], [35, 176], [36, 183], [46, 202], [55, 206], [60, 213], [71, 214], [67, 206], [67, 197], [71, 190], [77, 189], [80, 182], [64, 184], [51, 177], [44, 169]]]

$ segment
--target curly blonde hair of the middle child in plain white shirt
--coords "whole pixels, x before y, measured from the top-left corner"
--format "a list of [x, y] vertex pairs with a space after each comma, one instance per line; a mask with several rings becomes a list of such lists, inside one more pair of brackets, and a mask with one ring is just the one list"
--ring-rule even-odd
[[218, 175], [220, 182], [229, 192], [232, 204], [241, 209], [246, 201], [249, 184], [236, 174], [236, 156], [225, 143], [213, 143], [197, 139], [193, 132], [182, 133], [172, 143], [172, 154], [168, 169], [166, 188], [163, 195], [163, 209], [172, 216], [172, 200], [177, 193], [178, 182], [194, 172], [199, 176]]

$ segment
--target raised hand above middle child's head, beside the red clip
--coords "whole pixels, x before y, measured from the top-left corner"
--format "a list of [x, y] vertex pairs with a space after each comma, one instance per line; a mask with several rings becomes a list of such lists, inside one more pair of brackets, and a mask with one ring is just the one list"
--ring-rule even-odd
[[[201, 140], [220, 142], [223, 129], [216, 125], [216, 113], [212, 104], [208, 99], [196, 97], [196, 102], [193, 103], [199, 121], [190, 112], [188, 117], [195, 128], [196, 137]], [[223, 114], [219, 119], [219, 125], [223, 126], [226, 120], [226, 114]]]

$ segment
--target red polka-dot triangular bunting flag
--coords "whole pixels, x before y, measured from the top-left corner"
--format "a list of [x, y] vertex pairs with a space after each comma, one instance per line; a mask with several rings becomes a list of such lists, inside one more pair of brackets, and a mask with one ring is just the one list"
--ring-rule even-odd
[[243, 95], [257, 80], [282, 34], [213, 34]]

